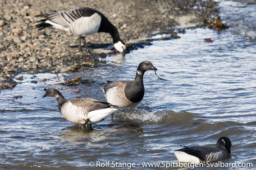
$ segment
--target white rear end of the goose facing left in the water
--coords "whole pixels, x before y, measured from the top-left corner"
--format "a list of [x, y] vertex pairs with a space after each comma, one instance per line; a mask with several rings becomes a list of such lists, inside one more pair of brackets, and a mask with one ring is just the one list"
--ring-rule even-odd
[[106, 109], [99, 109], [99, 110], [94, 110], [89, 112], [88, 114], [88, 119], [89, 122], [88, 124], [93, 124], [93, 123], [98, 123], [110, 116], [110, 114], [114, 113], [118, 109], [114, 108], [106, 108]]

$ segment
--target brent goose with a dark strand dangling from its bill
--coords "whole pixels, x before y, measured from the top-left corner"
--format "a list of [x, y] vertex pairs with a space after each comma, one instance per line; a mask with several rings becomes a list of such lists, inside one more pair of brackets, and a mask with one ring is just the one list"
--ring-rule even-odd
[[123, 109], [134, 109], [143, 99], [143, 75], [147, 70], [157, 69], [150, 61], [143, 61], [138, 66], [134, 81], [107, 81], [102, 88], [107, 101]]

